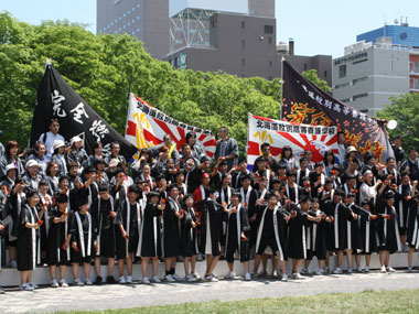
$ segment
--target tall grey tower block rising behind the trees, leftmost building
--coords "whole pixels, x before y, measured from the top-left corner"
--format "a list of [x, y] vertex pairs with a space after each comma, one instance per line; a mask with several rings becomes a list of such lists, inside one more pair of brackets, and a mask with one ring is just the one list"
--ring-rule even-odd
[[96, 32], [130, 34], [155, 58], [169, 53], [169, 0], [97, 0]]

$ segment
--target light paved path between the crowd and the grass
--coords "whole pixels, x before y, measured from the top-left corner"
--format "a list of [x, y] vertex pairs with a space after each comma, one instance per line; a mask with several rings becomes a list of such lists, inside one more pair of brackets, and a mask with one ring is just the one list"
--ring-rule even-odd
[[[221, 280], [216, 283], [160, 283], [152, 285], [41, 288], [34, 292], [8, 289], [0, 295], [0, 313], [54, 312], [71, 310], [131, 308], [198, 301], [234, 301], [250, 297], [313, 295], [365, 290], [419, 289], [419, 273], [372, 272], [352, 275], [307, 277], [280, 282], [270, 279]], [[180, 297], [181, 296], [181, 297]]]

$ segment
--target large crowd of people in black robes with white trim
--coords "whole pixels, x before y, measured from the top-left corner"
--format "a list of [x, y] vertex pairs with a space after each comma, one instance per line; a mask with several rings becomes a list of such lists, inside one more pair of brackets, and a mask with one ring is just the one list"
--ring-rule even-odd
[[[390, 255], [407, 250], [412, 271], [419, 247], [419, 159], [413, 148], [402, 161], [401, 147], [396, 147], [398, 160], [382, 164], [374, 154], [361, 156], [346, 147], [340, 134], [340, 154], [325, 152], [314, 163], [310, 151], [297, 156], [290, 147], [275, 159], [269, 143], [262, 143], [249, 171], [223, 127], [213, 160], [194, 133], [179, 151], [166, 134], [162, 144], [141, 150], [129, 165], [117, 142], [107, 156], [100, 142], [88, 155], [80, 138], [67, 147], [58, 130], [53, 119], [25, 162], [13, 141], [1, 156], [0, 260], [21, 272], [21, 290], [36, 288], [32, 272], [42, 266], [49, 267], [53, 288], [68, 285], [67, 267], [76, 285], [93, 284], [92, 266], [96, 284], [132, 283], [135, 262], [141, 263], [143, 283], [161, 282], [161, 261], [166, 282], [216, 282], [219, 259], [228, 264], [224, 278], [237, 278], [238, 259], [244, 279], [251, 280], [267, 275], [270, 257], [271, 275], [287, 281], [287, 263], [292, 279], [309, 273], [310, 266], [319, 275], [339, 274], [345, 256], [347, 273], [369, 272], [373, 253], [379, 253], [380, 271], [393, 272]], [[336, 267], [330, 270], [333, 255]], [[184, 278], [175, 272], [180, 258]], [[202, 258], [203, 278], [196, 272]], [[104, 261], [106, 275], [100, 273]]]

